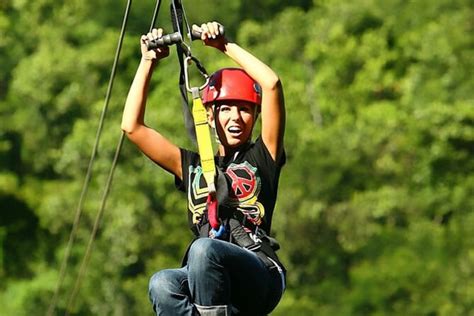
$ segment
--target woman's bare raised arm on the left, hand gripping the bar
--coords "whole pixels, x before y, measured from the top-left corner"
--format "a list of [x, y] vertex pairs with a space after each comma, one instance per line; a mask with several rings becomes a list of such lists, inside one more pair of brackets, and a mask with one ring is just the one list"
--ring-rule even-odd
[[128, 92], [121, 127], [146, 156], [181, 179], [180, 149], [144, 122], [148, 86], [156, 61], [169, 54], [167, 47], [148, 51], [146, 44], [152, 38], [161, 37], [162, 32], [161, 29], [154, 29], [140, 39], [142, 59]]

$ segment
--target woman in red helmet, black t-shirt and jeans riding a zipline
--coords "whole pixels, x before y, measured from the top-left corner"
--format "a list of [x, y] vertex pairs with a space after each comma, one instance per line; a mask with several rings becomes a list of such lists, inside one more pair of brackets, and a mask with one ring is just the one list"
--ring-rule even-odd
[[[181, 268], [161, 270], [150, 279], [149, 296], [157, 315], [237, 311], [265, 315], [276, 307], [285, 288], [286, 272], [275, 254], [278, 244], [269, 237], [285, 163], [282, 85], [270, 67], [228, 41], [222, 30], [216, 22], [193, 26], [206, 46], [241, 67], [217, 71], [202, 91], [205, 123], [219, 141], [211, 159], [215, 178], [203, 175], [209, 168], [203, 163], [201, 144], [199, 154], [180, 148], [144, 122], [151, 76], [157, 61], [169, 55], [167, 46], [148, 48], [163, 37], [162, 29], [140, 39], [142, 58], [125, 104], [122, 130], [146, 156], [175, 176], [177, 188], [187, 194], [189, 225], [196, 235]], [[196, 89], [193, 98], [200, 102]], [[259, 115], [261, 135], [252, 142]], [[196, 122], [196, 130], [201, 127]], [[200, 143], [205, 133], [197, 134]], [[211, 214], [213, 208], [217, 219]]]

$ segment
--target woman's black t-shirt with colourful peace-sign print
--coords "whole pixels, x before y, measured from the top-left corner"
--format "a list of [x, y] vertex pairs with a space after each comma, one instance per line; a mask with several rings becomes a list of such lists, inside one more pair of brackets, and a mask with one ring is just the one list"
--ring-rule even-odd
[[[274, 161], [261, 137], [249, 143], [232, 157], [215, 157], [216, 167], [224, 172], [229, 197], [225, 202], [227, 212], [240, 212], [243, 225], [249, 230], [255, 227], [271, 229], [273, 210], [278, 191], [280, 170], [285, 164], [285, 154]], [[201, 223], [206, 211], [208, 195], [202, 174], [199, 154], [181, 149], [183, 180], [176, 177], [176, 186], [187, 194], [188, 223], [198, 235], [196, 225]], [[219, 214], [222, 214], [222, 206]]]

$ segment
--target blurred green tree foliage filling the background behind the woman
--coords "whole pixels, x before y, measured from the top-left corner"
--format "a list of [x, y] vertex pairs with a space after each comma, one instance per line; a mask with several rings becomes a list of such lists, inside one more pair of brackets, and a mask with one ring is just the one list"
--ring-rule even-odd
[[[274, 234], [288, 287], [274, 315], [474, 311], [474, 9], [468, 0], [184, 1], [280, 75], [287, 166]], [[125, 3], [0, 3], [0, 314], [45, 314], [110, 77]], [[130, 12], [63, 313], [103, 195], [139, 35]], [[170, 29], [167, 3], [158, 24]], [[25, 31], [27, 30], [27, 31]], [[208, 71], [229, 65], [193, 44]], [[171, 54], [146, 116], [192, 147]], [[171, 79], [170, 79], [171, 78]], [[73, 314], [152, 314], [148, 278], [191, 233], [172, 177], [125, 142]]]

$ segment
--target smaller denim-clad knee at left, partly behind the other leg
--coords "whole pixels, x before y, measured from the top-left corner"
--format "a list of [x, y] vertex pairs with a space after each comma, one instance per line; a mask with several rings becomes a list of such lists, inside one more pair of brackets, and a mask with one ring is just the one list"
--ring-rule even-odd
[[196, 315], [196, 308], [189, 299], [186, 268], [155, 273], [150, 279], [148, 294], [158, 316]]

